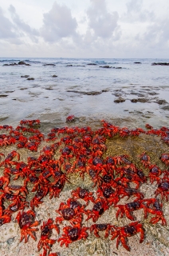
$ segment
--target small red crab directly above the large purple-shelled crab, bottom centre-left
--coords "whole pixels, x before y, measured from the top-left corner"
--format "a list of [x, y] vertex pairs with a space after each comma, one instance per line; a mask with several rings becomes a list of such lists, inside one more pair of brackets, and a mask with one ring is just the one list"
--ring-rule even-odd
[[86, 206], [88, 206], [89, 201], [94, 202], [95, 200], [95, 198], [92, 195], [92, 192], [89, 192], [86, 189], [82, 189], [81, 187], [78, 187], [77, 190], [73, 190], [71, 194], [75, 200], [79, 198], [85, 200], [85, 202], [87, 202]]

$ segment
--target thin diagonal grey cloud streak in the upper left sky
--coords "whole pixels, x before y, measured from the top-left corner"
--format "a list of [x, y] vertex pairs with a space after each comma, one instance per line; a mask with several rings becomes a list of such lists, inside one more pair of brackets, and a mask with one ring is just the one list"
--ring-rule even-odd
[[28, 24], [26, 24], [26, 22], [23, 22], [22, 19], [19, 18], [18, 14], [16, 13], [14, 6], [10, 5], [9, 10], [10, 10], [12, 21], [16, 26], [16, 30], [18, 30], [18, 32], [20, 33], [23, 32], [23, 34], [21, 33], [22, 36], [28, 35], [33, 42], [38, 42], [36, 38], [39, 35], [38, 30], [31, 28]]

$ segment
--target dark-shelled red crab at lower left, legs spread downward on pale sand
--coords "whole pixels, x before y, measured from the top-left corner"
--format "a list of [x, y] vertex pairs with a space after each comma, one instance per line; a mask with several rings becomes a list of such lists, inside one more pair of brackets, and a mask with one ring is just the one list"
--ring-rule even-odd
[[38, 229], [35, 226], [39, 225], [39, 222], [34, 221], [35, 213], [32, 210], [28, 210], [27, 212], [19, 212], [16, 219], [21, 229], [21, 242], [25, 238], [25, 242], [28, 241], [29, 235], [31, 238], [36, 240], [35, 231]]

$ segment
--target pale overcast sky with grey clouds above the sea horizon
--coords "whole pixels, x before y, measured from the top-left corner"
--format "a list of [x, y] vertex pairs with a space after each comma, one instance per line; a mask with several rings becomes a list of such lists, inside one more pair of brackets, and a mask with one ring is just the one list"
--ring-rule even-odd
[[0, 57], [169, 58], [169, 0], [0, 0]]

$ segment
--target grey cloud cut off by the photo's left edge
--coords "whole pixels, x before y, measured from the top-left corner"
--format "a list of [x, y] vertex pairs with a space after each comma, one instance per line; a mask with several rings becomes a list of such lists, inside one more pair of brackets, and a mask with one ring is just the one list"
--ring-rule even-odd
[[14, 32], [14, 24], [4, 16], [0, 7], [0, 39], [10, 38], [17, 38], [17, 34]]

